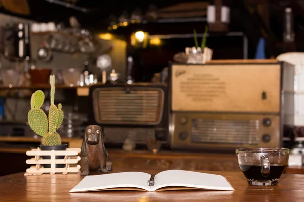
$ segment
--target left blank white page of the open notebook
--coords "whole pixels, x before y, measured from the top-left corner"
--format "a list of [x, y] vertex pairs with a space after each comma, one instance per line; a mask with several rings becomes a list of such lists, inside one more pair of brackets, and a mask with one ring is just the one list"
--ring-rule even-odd
[[88, 175], [70, 192], [108, 189], [117, 187], [149, 188], [147, 181], [151, 175], [142, 172], [123, 172], [102, 175]]

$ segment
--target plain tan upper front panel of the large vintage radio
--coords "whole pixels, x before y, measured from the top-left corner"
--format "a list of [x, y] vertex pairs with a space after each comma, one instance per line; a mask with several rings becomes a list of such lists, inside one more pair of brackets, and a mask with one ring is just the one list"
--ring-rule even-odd
[[279, 64], [173, 65], [172, 110], [277, 113], [280, 71]]

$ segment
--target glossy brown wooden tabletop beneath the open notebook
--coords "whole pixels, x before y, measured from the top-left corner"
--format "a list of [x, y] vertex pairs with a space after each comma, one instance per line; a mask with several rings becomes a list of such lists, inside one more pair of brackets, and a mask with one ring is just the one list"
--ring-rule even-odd
[[[115, 170], [157, 173], [163, 170]], [[43, 174], [24, 176], [17, 173], [0, 177], [1, 201], [303, 201], [304, 175], [283, 174], [277, 186], [249, 186], [241, 172], [205, 171], [229, 180], [235, 191], [96, 191], [68, 193], [83, 178], [80, 174]], [[100, 173], [97, 173], [100, 174]]]

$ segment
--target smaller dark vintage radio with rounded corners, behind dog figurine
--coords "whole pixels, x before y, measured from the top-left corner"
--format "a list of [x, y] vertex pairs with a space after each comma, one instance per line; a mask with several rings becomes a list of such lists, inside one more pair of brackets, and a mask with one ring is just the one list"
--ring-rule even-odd
[[148, 139], [168, 143], [167, 84], [104, 84], [90, 87], [89, 123], [103, 127], [106, 145], [129, 138], [140, 145]]

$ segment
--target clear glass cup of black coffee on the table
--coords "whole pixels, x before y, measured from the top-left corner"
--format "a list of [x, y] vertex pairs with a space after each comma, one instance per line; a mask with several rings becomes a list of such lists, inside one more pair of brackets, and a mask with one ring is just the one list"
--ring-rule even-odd
[[240, 148], [236, 150], [239, 167], [248, 184], [277, 185], [288, 165], [288, 148]]

